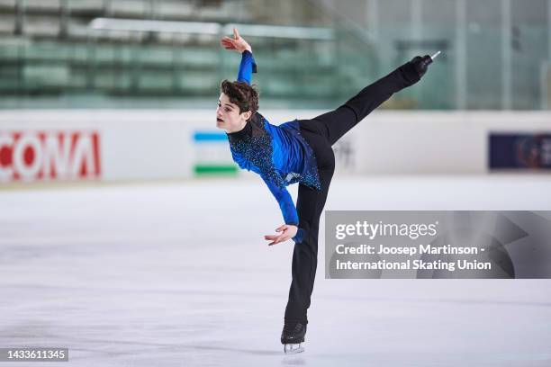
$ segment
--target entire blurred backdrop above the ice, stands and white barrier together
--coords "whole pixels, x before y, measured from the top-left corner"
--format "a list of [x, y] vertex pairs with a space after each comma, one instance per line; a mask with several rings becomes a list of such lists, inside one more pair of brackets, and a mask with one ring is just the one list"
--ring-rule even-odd
[[339, 142], [341, 172], [550, 165], [549, 0], [0, 0], [0, 182], [243, 175], [212, 124], [233, 27], [276, 124], [442, 51]]

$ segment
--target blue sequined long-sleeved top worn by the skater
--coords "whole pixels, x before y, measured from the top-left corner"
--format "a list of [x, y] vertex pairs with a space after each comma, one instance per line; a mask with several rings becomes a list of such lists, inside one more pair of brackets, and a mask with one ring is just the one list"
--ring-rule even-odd
[[[241, 54], [238, 81], [250, 84], [257, 65], [252, 53]], [[243, 130], [228, 133], [233, 160], [240, 168], [260, 175], [276, 197], [285, 224], [298, 226], [299, 218], [291, 195], [285, 186], [303, 183], [321, 190], [316, 157], [303, 139], [297, 120], [272, 125], [260, 113], [255, 113]], [[300, 240], [302, 231], [294, 237]]]

